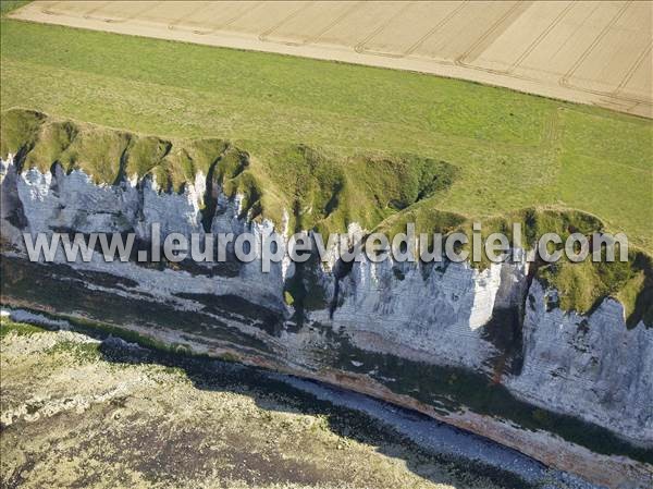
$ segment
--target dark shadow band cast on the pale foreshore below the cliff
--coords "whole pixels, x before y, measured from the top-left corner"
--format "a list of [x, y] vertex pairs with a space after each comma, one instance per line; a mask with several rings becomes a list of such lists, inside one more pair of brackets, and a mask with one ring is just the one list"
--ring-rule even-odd
[[[88, 331], [84, 333], [88, 334]], [[320, 400], [311, 393], [274, 378], [264, 369], [184, 353], [159, 352], [131, 345], [112, 337], [98, 339], [102, 340], [99, 352], [103, 360], [115, 364], [156, 364], [181, 369], [197, 389], [248, 395], [259, 408], [266, 411], [300, 412], [306, 415], [321, 416], [326, 420], [332, 432], [372, 445], [379, 453], [401, 457], [411, 472], [435, 484], [480, 487], [481, 480], [485, 479], [498, 487], [530, 487], [525, 480], [506, 470], [433, 453], [360, 411]], [[246, 389], [243, 389], [244, 387]], [[270, 402], [271, 399], [274, 400], [273, 403]], [[404, 411], [394, 406], [393, 409]], [[410, 416], [426, 418], [417, 413], [410, 413]], [[410, 456], [403, 456], [403, 454]], [[433, 463], [444, 465], [446, 470], [433, 470]], [[282, 474], [271, 474], [270, 477], [274, 480], [270, 482], [292, 482], [292, 480], [279, 480], [280, 476], [283, 478]]]

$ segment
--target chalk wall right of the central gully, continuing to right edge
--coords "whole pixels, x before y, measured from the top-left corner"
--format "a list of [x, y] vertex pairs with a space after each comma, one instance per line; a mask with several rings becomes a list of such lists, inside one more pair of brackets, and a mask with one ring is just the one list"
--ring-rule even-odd
[[619, 302], [563, 311], [555, 290], [529, 284], [527, 262], [398, 268], [364, 261], [342, 280], [329, 322], [356, 346], [483, 372], [518, 399], [651, 444], [653, 329], [629, 330]]

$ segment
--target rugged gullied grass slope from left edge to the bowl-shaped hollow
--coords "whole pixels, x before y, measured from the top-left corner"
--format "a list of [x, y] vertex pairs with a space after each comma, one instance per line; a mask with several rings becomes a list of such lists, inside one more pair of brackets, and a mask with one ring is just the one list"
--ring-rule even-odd
[[[13, 109], [2, 112], [1, 155], [22, 168], [82, 169], [96, 183], [152, 175], [180, 192], [201, 171], [211, 185], [245, 196], [252, 219], [278, 225], [283, 211], [291, 230], [340, 232], [357, 222], [374, 228], [392, 213], [448, 188], [458, 169], [445, 161], [380, 151], [341, 152], [293, 144], [215, 138], [164, 139]], [[210, 205], [210, 203], [205, 203]]]

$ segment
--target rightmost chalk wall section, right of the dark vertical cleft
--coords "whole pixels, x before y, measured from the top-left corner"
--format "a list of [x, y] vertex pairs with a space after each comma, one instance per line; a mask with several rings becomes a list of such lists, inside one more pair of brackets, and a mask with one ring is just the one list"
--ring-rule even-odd
[[653, 329], [628, 330], [606, 298], [591, 315], [547, 310], [554, 291], [534, 281], [523, 321], [523, 368], [505, 380], [519, 398], [653, 440]]

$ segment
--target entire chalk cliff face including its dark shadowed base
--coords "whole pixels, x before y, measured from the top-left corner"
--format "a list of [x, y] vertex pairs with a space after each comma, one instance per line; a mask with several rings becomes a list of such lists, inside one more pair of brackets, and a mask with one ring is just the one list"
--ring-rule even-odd
[[[241, 198], [220, 188], [211, 190], [214, 210], [206, 216], [202, 173], [175, 194], [149, 179], [96, 185], [82, 171], [53, 168], [19, 172], [2, 161], [3, 302], [341, 383], [602, 484], [652, 480], [644, 461], [653, 448], [653, 329], [641, 321], [628, 329], [615, 299], [587, 316], [563, 311], [526, 260], [482, 271], [391, 261], [299, 270], [283, 262], [270, 273], [257, 260], [153, 266], [104, 262], [97, 253], [89, 262], [64, 265], [60, 254], [56, 265], [29, 264], [24, 232], [134, 231], [145, 244], [155, 222], [162, 233], [186, 235], [207, 225], [259, 239], [287, 233], [249, 220]], [[293, 281], [319, 299], [286, 305]]]

